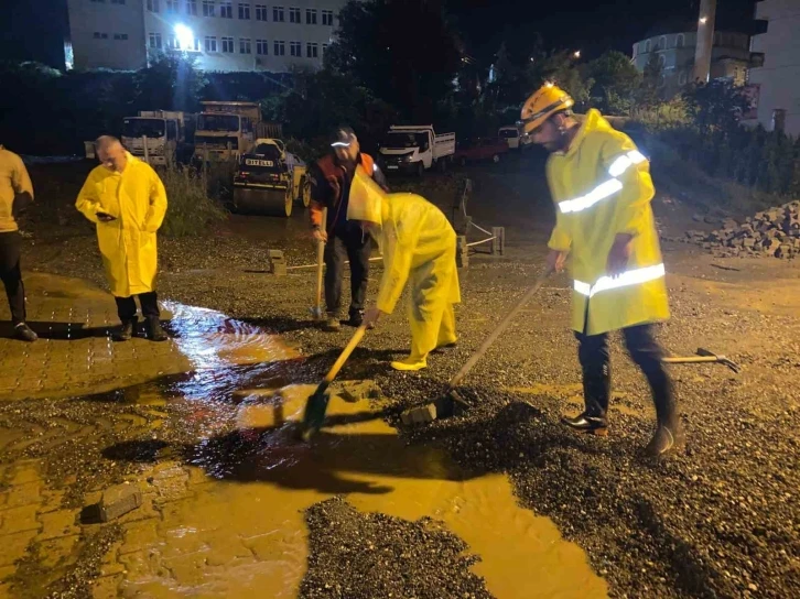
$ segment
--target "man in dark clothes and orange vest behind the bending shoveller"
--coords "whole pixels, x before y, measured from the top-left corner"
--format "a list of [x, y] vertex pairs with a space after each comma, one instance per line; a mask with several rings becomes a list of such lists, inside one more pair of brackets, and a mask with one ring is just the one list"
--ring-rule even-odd
[[[350, 261], [348, 325], [360, 326], [367, 297], [372, 246], [358, 225], [347, 222], [350, 183], [359, 165], [387, 189], [383, 173], [369, 154], [361, 152], [353, 129], [339, 127], [331, 138], [331, 153], [311, 168], [311, 224], [314, 238], [325, 242], [325, 329], [331, 331], [339, 329], [342, 277], [346, 260]], [[322, 221], [324, 208], [327, 208], [327, 222]]]

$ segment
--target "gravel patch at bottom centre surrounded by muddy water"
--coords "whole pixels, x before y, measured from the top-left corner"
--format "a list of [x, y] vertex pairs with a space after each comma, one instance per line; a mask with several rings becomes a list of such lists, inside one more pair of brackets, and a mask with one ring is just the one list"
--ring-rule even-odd
[[305, 522], [311, 553], [303, 599], [491, 597], [469, 571], [479, 558], [434, 520], [363, 513], [333, 498], [312, 505]]

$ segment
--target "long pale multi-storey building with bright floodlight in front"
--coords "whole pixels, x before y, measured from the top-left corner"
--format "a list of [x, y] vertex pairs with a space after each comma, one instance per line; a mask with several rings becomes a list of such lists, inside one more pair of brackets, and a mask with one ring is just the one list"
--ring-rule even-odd
[[67, 68], [137, 69], [158, 52], [204, 70], [320, 68], [345, 1], [67, 0]]

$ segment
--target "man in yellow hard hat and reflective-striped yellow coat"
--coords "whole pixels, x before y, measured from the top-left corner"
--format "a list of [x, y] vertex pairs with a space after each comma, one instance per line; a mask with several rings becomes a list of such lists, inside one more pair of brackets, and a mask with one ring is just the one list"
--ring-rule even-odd
[[653, 323], [669, 318], [664, 265], [650, 200], [649, 164], [634, 142], [598, 111], [583, 122], [573, 100], [548, 84], [522, 107], [522, 127], [550, 152], [547, 177], [555, 203], [549, 265], [571, 258], [572, 328], [579, 340], [585, 410], [563, 422], [575, 431], [607, 434], [612, 393], [608, 333], [623, 330], [626, 347], [647, 377], [658, 427], [646, 448], [678, 449], [683, 434], [663, 350]]

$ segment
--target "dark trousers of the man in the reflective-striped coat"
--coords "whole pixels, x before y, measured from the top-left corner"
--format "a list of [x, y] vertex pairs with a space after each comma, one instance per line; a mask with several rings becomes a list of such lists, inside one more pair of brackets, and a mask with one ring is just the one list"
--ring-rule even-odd
[[[652, 401], [659, 424], [674, 425], [678, 418], [672, 381], [661, 359], [663, 349], [656, 340], [652, 325], [638, 325], [623, 329], [625, 347], [650, 383]], [[583, 369], [583, 397], [586, 415], [606, 418], [612, 396], [612, 362], [608, 335], [576, 333], [577, 357]]]

